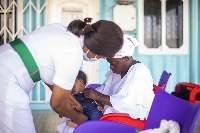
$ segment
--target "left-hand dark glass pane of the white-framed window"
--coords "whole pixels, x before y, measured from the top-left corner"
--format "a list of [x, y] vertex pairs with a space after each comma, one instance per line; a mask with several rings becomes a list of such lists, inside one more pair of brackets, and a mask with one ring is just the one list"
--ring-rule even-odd
[[161, 45], [161, 1], [144, 1], [144, 44], [148, 48]]

